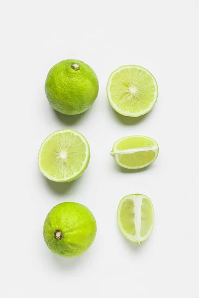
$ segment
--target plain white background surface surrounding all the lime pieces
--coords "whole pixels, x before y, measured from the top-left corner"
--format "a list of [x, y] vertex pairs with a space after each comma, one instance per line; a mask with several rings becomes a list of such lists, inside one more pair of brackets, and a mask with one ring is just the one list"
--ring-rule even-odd
[[[199, 0], [7, 0], [1, 4], [0, 293], [3, 298], [199, 298]], [[61, 60], [89, 64], [100, 82], [80, 116], [49, 105], [44, 82]], [[119, 66], [147, 68], [159, 85], [151, 112], [118, 115], [106, 98]], [[72, 128], [91, 147], [78, 180], [48, 181], [37, 153], [52, 132]], [[159, 144], [157, 160], [129, 172], [109, 155], [124, 136]], [[143, 193], [154, 204], [154, 230], [140, 246], [116, 223], [120, 199]], [[47, 248], [42, 227], [65, 201], [86, 205], [98, 232], [77, 258]]]

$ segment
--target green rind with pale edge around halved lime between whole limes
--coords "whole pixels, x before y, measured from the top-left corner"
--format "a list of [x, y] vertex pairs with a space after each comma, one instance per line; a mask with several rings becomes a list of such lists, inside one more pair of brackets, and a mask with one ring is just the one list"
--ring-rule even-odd
[[[57, 178], [54, 175], [49, 175], [48, 171], [47, 170], [44, 170], [44, 168], [43, 168], [43, 166], [41, 164], [41, 155], [42, 155], [42, 152], [43, 152], [44, 145], [46, 145], [46, 143], [53, 136], [58, 135], [58, 134], [64, 134], [64, 133], [71, 133], [71, 134], [74, 134], [74, 136], [80, 137], [80, 139], [82, 140], [82, 142], [84, 143], [85, 148], [86, 148], [86, 151], [85, 151], [86, 157], [84, 159], [84, 162], [83, 162], [82, 167], [80, 168], [80, 170], [78, 170], [77, 172], [75, 172], [73, 175], [65, 176], [65, 177], [62, 177], [62, 178]], [[82, 153], [82, 152], [80, 152], [80, 153]], [[53, 156], [53, 159], [54, 159], [54, 156]], [[50, 164], [50, 167], [51, 167], [51, 161], [53, 161], [52, 158], [48, 160], [48, 162]], [[79, 133], [79, 132], [77, 132], [75, 130], [72, 130], [72, 129], [58, 130], [58, 131], [52, 133], [51, 135], [49, 135], [43, 141], [43, 143], [42, 143], [42, 145], [41, 145], [41, 147], [39, 149], [39, 152], [38, 152], [38, 167], [39, 167], [40, 172], [46, 178], [48, 178], [51, 181], [55, 181], [55, 182], [70, 182], [70, 181], [73, 181], [73, 180], [78, 179], [85, 172], [85, 170], [87, 169], [88, 164], [89, 164], [89, 161], [90, 161], [90, 146], [89, 146], [89, 143], [87, 142], [86, 138], [81, 133]]]

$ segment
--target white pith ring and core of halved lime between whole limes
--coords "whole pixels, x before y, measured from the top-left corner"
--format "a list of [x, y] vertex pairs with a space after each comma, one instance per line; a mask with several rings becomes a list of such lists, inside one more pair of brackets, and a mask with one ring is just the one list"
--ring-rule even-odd
[[[43, 170], [43, 168], [42, 168], [42, 166], [41, 166], [41, 152], [42, 152], [42, 149], [43, 149], [44, 145], [46, 144], [46, 142], [48, 142], [49, 139], [51, 139], [51, 137], [53, 137], [53, 136], [55, 136], [55, 135], [57, 135], [57, 134], [64, 134], [64, 133], [66, 133], [66, 132], [72, 133], [72, 134], [74, 134], [74, 135], [76, 135], [76, 136], [78, 136], [78, 137], [80, 137], [80, 138], [82, 139], [82, 141], [83, 141], [83, 143], [85, 144], [85, 147], [86, 147], [86, 152], [85, 152], [85, 154], [86, 154], [86, 158], [85, 158], [85, 160], [84, 160], [84, 162], [83, 162], [83, 164], [82, 164], [81, 169], [80, 169], [78, 172], [74, 173], [74, 174], [71, 175], [71, 176], [67, 176], [67, 177], [58, 179], [58, 178], [55, 178], [55, 177], [53, 177], [53, 176], [48, 175], [48, 173], [47, 173], [46, 171]], [[38, 166], [39, 166], [40, 171], [43, 173], [43, 175], [44, 175], [45, 177], [47, 177], [48, 179], [53, 180], [53, 181], [57, 181], [57, 182], [65, 182], [65, 181], [71, 180], [71, 179], [73, 179], [74, 177], [78, 176], [78, 175], [83, 171], [83, 169], [84, 169], [86, 163], [88, 162], [89, 151], [90, 151], [90, 149], [89, 149], [89, 144], [88, 144], [87, 140], [85, 139], [85, 137], [84, 137], [82, 134], [80, 134], [80, 133], [78, 133], [77, 131], [74, 131], [74, 130], [72, 130], [72, 129], [63, 129], [63, 130], [59, 130], [59, 131], [56, 131], [56, 132], [52, 133], [51, 135], [49, 135], [49, 136], [44, 140], [44, 142], [42, 143], [41, 148], [39, 149], [39, 153], [38, 153]], [[66, 152], [65, 152], [65, 151], [60, 152], [60, 157], [61, 157], [61, 158], [64, 158], [64, 157], [61, 156], [61, 153], [63, 153], [63, 155], [65, 155], [64, 153], [66, 153]], [[66, 154], [67, 154], [67, 153], [66, 153]]]

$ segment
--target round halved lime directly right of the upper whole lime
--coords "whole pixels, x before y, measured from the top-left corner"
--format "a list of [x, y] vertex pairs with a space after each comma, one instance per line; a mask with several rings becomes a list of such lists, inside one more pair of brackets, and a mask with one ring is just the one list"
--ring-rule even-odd
[[148, 113], [158, 98], [155, 77], [137, 65], [121, 66], [110, 74], [106, 90], [113, 109], [129, 117]]

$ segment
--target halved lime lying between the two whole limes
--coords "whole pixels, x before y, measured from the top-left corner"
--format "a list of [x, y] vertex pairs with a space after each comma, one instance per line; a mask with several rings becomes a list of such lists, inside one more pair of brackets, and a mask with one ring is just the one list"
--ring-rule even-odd
[[80, 177], [90, 160], [90, 147], [85, 137], [72, 130], [52, 133], [41, 145], [38, 166], [41, 173], [56, 182], [69, 182]]

